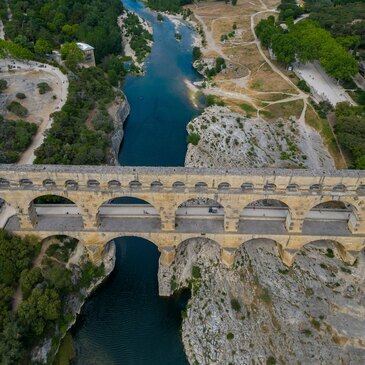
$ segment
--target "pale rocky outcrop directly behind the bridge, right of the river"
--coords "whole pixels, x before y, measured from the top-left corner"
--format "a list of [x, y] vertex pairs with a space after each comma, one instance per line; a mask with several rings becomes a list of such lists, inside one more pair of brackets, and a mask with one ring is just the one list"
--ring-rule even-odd
[[295, 117], [268, 122], [211, 106], [187, 131], [199, 142], [189, 144], [185, 166], [333, 168], [320, 136], [314, 130], [312, 138], [304, 135]]

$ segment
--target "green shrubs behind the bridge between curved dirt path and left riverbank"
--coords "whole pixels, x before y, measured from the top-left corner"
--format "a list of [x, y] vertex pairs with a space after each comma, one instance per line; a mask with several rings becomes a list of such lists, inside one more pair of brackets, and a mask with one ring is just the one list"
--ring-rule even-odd
[[[112, 88], [103, 70], [81, 69], [70, 80], [69, 94], [61, 111], [53, 113], [52, 128], [35, 152], [38, 164], [99, 165], [106, 163], [110, 144], [110, 120], [100, 121], [119, 91]], [[86, 125], [90, 113], [100, 111]], [[107, 124], [107, 126], [105, 125]]]

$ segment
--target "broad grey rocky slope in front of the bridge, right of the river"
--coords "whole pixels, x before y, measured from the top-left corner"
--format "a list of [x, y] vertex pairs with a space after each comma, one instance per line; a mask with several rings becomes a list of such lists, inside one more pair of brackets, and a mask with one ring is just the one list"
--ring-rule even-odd
[[345, 265], [307, 245], [291, 268], [272, 241], [242, 245], [232, 269], [204, 238], [160, 270], [165, 292], [190, 287], [182, 336], [191, 364], [364, 364], [365, 253]]

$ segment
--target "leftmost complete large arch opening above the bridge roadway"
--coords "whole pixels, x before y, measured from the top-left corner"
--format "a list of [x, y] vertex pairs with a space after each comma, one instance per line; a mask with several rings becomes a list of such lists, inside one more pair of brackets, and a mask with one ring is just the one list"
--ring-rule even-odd
[[29, 203], [29, 219], [34, 228], [44, 231], [82, 230], [80, 208], [69, 198], [45, 194]]

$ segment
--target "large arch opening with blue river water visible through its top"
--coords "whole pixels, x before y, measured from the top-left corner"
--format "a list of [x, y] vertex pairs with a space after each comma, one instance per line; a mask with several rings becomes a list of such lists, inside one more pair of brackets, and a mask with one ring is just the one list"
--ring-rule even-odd
[[158, 210], [148, 201], [123, 196], [104, 202], [98, 209], [99, 226], [106, 231], [144, 232], [161, 229]]

